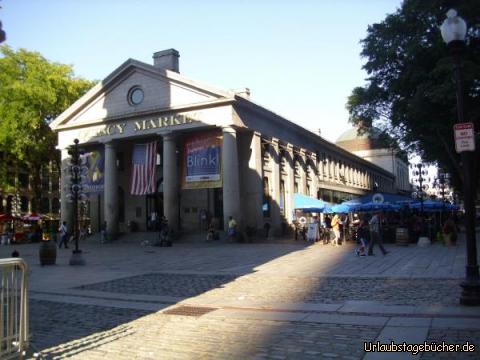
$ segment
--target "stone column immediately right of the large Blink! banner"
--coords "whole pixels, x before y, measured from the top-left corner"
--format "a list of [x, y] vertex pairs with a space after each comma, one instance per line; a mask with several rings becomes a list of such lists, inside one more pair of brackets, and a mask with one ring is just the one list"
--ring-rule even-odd
[[233, 216], [237, 222], [237, 227], [240, 229], [242, 226], [242, 213], [240, 210], [237, 132], [230, 126], [226, 126], [222, 130], [223, 221], [225, 229], [228, 229], [228, 218]]

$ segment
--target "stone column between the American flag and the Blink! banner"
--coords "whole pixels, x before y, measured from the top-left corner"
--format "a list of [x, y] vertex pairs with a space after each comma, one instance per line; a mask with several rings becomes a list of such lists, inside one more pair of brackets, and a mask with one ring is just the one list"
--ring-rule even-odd
[[163, 213], [171, 229], [178, 231], [178, 166], [175, 135], [163, 136]]

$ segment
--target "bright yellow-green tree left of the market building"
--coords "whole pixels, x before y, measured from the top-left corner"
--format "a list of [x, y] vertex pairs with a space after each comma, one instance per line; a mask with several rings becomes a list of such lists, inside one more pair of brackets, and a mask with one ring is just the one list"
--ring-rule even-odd
[[72, 66], [50, 62], [38, 52], [3, 45], [0, 54], [0, 151], [7, 160], [0, 167], [0, 186], [11, 191], [11, 167], [28, 166], [35, 208], [40, 169], [58, 157], [48, 124], [94, 83], [76, 78]]

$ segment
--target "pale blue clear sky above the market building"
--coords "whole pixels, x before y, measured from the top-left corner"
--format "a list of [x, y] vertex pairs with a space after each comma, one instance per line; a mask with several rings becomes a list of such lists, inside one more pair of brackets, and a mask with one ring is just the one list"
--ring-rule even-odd
[[327, 140], [364, 84], [359, 41], [400, 0], [0, 0], [6, 44], [103, 79], [128, 58], [180, 52], [180, 73], [252, 100]]

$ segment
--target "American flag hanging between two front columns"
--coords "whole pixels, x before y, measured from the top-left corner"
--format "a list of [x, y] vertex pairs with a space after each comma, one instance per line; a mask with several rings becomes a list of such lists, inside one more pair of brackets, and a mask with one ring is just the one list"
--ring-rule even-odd
[[136, 144], [133, 148], [132, 195], [145, 195], [155, 192], [155, 166], [157, 162], [157, 142]]

